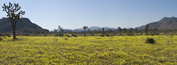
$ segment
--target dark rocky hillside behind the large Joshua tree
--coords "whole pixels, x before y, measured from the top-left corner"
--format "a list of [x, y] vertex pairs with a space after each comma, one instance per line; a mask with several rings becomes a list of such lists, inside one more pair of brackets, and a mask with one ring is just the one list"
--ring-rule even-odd
[[[47, 29], [43, 29], [35, 23], [32, 23], [28, 18], [21, 18], [23, 22], [17, 22], [16, 33], [25, 33], [25, 30], [28, 30], [28, 33], [35, 32], [49, 32]], [[0, 32], [3, 33], [12, 33], [12, 25], [8, 18], [0, 19]]]

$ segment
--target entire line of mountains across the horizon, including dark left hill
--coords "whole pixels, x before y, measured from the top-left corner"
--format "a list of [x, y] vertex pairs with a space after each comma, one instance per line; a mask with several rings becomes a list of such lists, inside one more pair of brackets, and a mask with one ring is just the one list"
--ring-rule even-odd
[[[49, 32], [47, 29], [43, 29], [42, 27], [38, 26], [35, 23], [32, 23], [28, 18], [21, 18], [23, 22], [17, 22], [16, 26], [16, 32], [17, 33], [24, 33], [24, 31], [27, 29], [29, 33], [35, 33], [36, 31], [39, 32]], [[166, 30], [166, 29], [177, 29], [177, 18], [176, 17], [164, 17], [159, 21], [148, 23], [149, 29], [157, 28], [159, 30]], [[90, 31], [102, 31], [103, 27], [98, 27], [98, 26], [92, 26], [88, 27], [87, 30]], [[116, 28], [110, 28], [110, 27], [104, 27], [105, 31], [108, 31], [109, 29], [111, 30], [116, 30]], [[145, 25], [142, 25], [140, 27], [136, 27], [138, 29], [145, 29]], [[129, 29], [129, 28], [126, 28]], [[57, 29], [59, 32], [60, 30]], [[84, 31], [83, 28], [78, 28], [78, 29], [64, 29], [64, 32], [81, 32]], [[9, 21], [8, 18], [2, 18], [0, 19], [0, 32], [4, 33], [12, 33], [12, 25], [11, 22]], [[50, 31], [53, 32], [53, 31]]]

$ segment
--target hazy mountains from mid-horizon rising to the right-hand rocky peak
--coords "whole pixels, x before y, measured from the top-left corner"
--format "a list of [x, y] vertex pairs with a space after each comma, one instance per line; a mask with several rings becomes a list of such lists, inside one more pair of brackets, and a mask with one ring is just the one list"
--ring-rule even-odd
[[[176, 17], [164, 17], [159, 21], [148, 23], [148, 25], [149, 25], [149, 29], [154, 29], [154, 28], [157, 28], [159, 30], [177, 29], [177, 18]], [[93, 30], [102, 31], [102, 28], [103, 27], [97, 27], [97, 26], [88, 27], [88, 29], [90, 29], [91, 31], [93, 31]], [[104, 27], [104, 28], [105, 28], [105, 31], [108, 31], [109, 29], [116, 30], [116, 28], [110, 28], [110, 27]], [[145, 29], [145, 25], [142, 25], [142, 26], [136, 27], [136, 28]], [[126, 28], [126, 29], [130, 29], [130, 28]], [[135, 28], [133, 28], [133, 29], [135, 29]], [[66, 30], [67, 31], [69, 30], [72, 32], [84, 31], [83, 28], [78, 28], [78, 29], [74, 29], [74, 30], [66, 29]]]

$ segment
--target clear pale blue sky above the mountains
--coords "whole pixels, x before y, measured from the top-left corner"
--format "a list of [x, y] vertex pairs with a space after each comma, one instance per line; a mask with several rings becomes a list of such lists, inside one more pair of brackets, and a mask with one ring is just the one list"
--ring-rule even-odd
[[[29, 18], [42, 28], [53, 30], [99, 27], [139, 27], [163, 17], [177, 16], [177, 0], [0, 0], [19, 3]], [[0, 8], [0, 18], [6, 12]]]

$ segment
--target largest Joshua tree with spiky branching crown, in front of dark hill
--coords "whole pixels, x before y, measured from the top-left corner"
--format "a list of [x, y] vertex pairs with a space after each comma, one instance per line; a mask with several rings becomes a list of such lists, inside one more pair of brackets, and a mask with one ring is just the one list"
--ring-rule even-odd
[[2, 8], [3, 8], [3, 11], [5, 11], [7, 13], [7, 17], [10, 19], [10, 22], [12, 24], [13, 39], [17, 39], [15, 36], [16, 24], [18, 21], [22, 22], [20, 17], [25, 14], [25, 11], [20, 10], [21, 7], [19, 6], [18, 3], [17, 4], [14, 3], [14, 5], [13, 5], [13, 4], [11, 4], [11, 2], [9, 2], [9, 6], [4, 3], [4, 6], [2, 6]]

